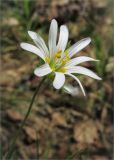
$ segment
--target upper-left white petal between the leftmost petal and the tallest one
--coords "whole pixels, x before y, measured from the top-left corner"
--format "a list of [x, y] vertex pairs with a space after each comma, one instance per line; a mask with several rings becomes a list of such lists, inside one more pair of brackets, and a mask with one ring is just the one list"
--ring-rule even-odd
[[48, 48], [44, 42], [44, 40], [35, 32], [28, 31], [29, 36], [33, 39], [34, 43], [37, 47], [42, 51], [42, 53], [46, 56], [49, 56]]

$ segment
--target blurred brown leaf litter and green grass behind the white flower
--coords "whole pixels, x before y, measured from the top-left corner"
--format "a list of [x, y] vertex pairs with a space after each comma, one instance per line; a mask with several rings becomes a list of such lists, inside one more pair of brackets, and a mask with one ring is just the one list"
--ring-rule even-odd
[[[85, 98], [74, 85], [73, 96], [44, 85], [17, 140], [14, 160], [112, 160], [112, 0], [2, 0], [1, 1], [1, 157], [27, 112], [41, 78], [33, 74], [40, 61], [20, 48], [33, 43], [27, 31], [47, 42], [51, 19], [69, 28], [69, 45], [91, 37], [77, 55], [100, 62], [84, 63], [102, 81], [80, 76]], [[1, 158], [2, 159], [2, 158]]]

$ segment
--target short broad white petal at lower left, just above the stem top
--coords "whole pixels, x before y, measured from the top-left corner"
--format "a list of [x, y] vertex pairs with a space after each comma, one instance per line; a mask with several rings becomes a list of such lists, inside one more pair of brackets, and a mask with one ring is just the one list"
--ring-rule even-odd
[[34, 70], [34, 74], [39, 77], [45, 76], [51, 72], [52, 72], [52, 69], [49, 67], [47, 63], [45, 63], [44, 65]]

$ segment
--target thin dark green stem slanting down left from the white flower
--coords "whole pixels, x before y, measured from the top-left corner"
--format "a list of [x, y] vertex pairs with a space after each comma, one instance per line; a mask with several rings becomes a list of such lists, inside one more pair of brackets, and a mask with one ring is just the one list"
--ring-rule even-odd
[[22, 121], [19, 130], [17, 130], [17, 132], [16, 132], [16, 134], [15, 134], [15, 137], [14, 137], [14, 139], [13, 139], [13, 141], [12, 141], [12, 144], [11, 144], [11, 146], [10, 146], [10, 148], [9, 148], [9, 151], [8, 151], [7, 154], [6, 154], [6, 157], [5, 157], [5, 158], [8, 159], [8, 160], [11, 158], [11, 156], [12, 156], [12, 154], [13, 154], [13, 152], [14, 152], [14, 147], [15, 147], [15, 144], [16, 144], [16, 140], [17, 140], [20, 132], [22, 131], [23, 126], [25, 125], [25, 122], [26, 122], [26, 120], [27, 120], [27, 118], [28, 118], [28, 116], [29, 116], [29, 114], [30, 114], [30, 112], [31, 112], [31, 109], [32, 109], [32, 106], [33, 106], [33, 102], [34, 102], [34, 100], [35, 100], [35, 97], [36, 97], [37, 93], [39, 92], [39, 90], [40, 90], [43, 82], [45, 81], [45, 79], [46, 79], [46, 77], [44, 77], [44, 78], [42, 79], [42, 81], [40, 82], [40, 84], [39, 84], [38, 87], [36, 88], [36, 91], [35, 91], [35, 93], [34, 93], [34, 95], [33, 95], [33, 97], [32, 97], [32, 100], [31, 100], [31, 103], [30, 103], [30, 105], [29, 105], [28, 111], [27, 111], [27, 113], [26, 113], [26, 115], [25, 115], [25, 118], [24, 118], [24, 120]]

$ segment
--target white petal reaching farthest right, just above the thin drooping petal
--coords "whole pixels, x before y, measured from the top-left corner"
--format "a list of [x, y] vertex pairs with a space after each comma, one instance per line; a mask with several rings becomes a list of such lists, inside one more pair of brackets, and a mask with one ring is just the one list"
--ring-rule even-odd
[[101, 80], [101, 78], [99, 76], [97, 76], [94, 72], [92, 72], [91, 70], [89, 70], [85, 67], [81, 67], [81, 66], [71, 67], [68, 69], [67, 73], [84, 74], [84, 75], [89, 76], [91, 78]]

